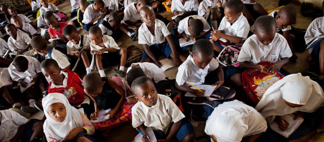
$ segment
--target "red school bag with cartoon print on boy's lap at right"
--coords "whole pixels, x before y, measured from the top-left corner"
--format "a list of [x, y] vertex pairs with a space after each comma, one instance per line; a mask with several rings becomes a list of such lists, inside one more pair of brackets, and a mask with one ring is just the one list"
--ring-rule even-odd
[[[269, 68], [272, 63], [260, 62], [262, 65]], [[261, 73], [258, 69], [247, 69], [242, 72], [242, 85], [245, 93], [249, 96], [254, 104], [258, 104], [264, 92], [275, 82], [284, 77], [280, 72], [273, 74]]]

